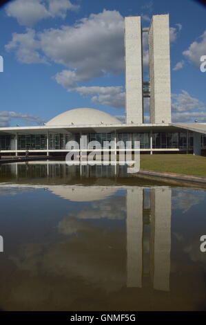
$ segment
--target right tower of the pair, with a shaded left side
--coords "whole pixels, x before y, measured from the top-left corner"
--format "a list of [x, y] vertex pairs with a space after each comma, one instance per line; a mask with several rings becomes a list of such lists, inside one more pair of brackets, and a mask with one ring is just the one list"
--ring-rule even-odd
[[169, 15], [154, 15], [149, 30], [150, 119], [171, 122]]

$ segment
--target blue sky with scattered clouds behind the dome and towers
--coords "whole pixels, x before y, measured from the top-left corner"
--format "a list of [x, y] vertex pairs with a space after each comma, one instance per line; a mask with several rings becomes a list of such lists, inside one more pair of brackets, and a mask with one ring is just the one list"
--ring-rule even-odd
[[[200, 71], [206, 7], [192, 0], [14, 0], [0, 10], [0, 127], [43, 124], [79, 107], [123, 118], [123, 17], [141, 15], [149, 26], [152, 15], [165, 13], [172, 120], [206, 122], [206, 73]], [[143, 44], [146, 80], [146, 39]]]

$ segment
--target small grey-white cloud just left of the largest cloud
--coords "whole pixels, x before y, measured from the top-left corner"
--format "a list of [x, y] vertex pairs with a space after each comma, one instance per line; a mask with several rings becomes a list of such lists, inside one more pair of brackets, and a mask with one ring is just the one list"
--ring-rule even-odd
[[21, 63], [46, 63], [45, 57], [38, 52], [41, 44], [35, 38], [35, 32], [31, 28], [27, 28], [24, 34], [12, 34], [12, 41], [6, 46], [6, 50], [15, 50], [17, 59]]

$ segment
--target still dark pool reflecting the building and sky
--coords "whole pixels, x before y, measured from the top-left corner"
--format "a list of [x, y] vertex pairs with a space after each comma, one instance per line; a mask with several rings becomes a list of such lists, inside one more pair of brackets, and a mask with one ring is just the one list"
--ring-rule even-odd
[[61, 162], [0, 166], [1, 310], [205, 310], [206, 192]]

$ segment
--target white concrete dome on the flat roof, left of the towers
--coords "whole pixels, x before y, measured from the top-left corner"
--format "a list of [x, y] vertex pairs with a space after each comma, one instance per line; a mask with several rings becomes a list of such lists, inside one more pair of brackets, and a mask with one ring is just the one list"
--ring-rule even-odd
[[46, 125], [121, 124], [114, 116], [99, 109], [71, 109], [48, 121]]

